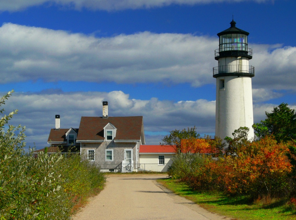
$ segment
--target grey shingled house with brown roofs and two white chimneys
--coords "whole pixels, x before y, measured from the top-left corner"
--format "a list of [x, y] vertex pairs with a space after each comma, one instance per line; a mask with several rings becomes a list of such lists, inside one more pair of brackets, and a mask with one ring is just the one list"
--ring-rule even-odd
[[108, 117], [108, 102], [103, 102], [103, 117], [81, 117], [79, 129], [60, 129], [56, 115], [48, 143], [80, 147], [82, 158], [102, 171], [137, 171], [139, 148], [145, 144], [143, 117]]

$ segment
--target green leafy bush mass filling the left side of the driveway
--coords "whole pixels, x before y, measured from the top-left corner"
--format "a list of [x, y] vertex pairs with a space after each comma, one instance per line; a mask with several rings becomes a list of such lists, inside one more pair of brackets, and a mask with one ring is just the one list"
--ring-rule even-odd
[[0, 119], [0, 219], [70, 219], [76, 199], [102, 187], [104, 174], [80, 155], [25, 152], [25, 127], [8, 125], [16, 113]]

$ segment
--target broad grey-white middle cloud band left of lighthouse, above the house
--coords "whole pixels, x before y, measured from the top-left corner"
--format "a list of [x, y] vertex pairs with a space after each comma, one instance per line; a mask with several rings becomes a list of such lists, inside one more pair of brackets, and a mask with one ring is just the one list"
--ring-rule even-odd
[[7, 23], [0, 28], [1, 83], [212, 81], [217, 39], [150, 32], [96, 38]]

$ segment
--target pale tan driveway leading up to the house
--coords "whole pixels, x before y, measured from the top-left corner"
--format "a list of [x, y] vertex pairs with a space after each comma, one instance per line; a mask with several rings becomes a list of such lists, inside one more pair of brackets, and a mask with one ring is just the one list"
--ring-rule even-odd
[[105, 189], [91, 198], [73, 220], [230, 220], [171, 193], [155, 181], [165, 177], [165, 174], [108, 175]]

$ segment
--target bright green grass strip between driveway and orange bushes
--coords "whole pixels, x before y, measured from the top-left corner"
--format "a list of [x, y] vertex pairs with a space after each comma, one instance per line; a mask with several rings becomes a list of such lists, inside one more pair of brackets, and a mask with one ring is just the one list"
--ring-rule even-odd
[[287, 200], [250, 200], [246, 196], [230, 197], [222, 193], [195, 192], [186, 184], [172, 179], [158, 180], [179, 196], [199, 204], [203, 208], [238, 220], [290, 220], [296, 219], [295, 211], [287, 205]]

